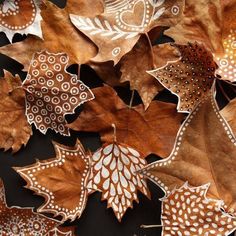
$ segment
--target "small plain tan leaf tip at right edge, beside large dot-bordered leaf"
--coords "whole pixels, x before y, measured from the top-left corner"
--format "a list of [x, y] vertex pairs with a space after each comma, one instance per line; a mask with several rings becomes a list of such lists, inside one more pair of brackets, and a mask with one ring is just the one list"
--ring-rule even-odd
[[236, 98], [231, 100], [223, 110], [220, 111], [221, 115], [227, 120], [234, 134], [236, 134]]

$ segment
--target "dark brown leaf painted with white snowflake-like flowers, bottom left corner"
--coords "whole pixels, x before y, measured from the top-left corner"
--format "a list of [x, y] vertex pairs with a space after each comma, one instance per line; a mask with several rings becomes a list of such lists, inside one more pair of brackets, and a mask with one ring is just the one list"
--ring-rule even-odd
[[0, 181], [0, 231], [2, 235], [46, 235], [59, 221], [36, 214], [32, 208], [8, 207], [3, 182]]

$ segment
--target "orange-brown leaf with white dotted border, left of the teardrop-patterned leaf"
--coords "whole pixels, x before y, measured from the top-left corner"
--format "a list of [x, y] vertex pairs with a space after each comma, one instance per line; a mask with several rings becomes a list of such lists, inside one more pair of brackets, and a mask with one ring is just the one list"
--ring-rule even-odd
[[79, 141], [75, 147], [53, 144], [56, 158], [15, 170], [26, 180], [27, 188], [45, 198], [38, 212], [61, 215], [63, 221], [74, 220], [81, 216], [87, 202], [89, 157]]

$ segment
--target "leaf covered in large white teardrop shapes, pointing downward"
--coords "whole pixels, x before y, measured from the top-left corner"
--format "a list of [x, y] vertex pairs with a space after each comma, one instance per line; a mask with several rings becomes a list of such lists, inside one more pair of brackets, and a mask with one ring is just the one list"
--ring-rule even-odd
[[88, 188], [102, 192], [119, 221], [138, 202], [137, 190], [150, 197], [146, 181], [137, 174], [145, 165], [139, 152], [120, 143], [105, 144], [92, 156]]

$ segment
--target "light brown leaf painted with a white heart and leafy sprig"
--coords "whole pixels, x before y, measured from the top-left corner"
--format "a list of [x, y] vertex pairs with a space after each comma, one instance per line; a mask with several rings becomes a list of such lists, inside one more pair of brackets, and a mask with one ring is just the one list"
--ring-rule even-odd
[[94, 61], [118, 63], [129, 52], [141, 34], [157, 26], [177, 23], [183, 1], [177, 0], [105, 0], [104, 13], [93, 17], [70, 15], [72, 23], [97, 46]]

